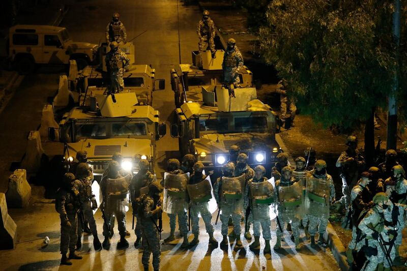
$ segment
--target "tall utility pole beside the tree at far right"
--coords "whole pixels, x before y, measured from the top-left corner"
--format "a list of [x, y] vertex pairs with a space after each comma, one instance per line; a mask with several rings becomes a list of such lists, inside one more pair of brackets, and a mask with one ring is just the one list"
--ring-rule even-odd
[[397, 92], [399, 77], [399, 47], [400, 47], [400, 0], [394, 0], [393, 13], [393, 40], [395, 44], [395, 70], [393, 88], [389, 93], [388, 118], [387, 118], [387, 149], [397, 148]]

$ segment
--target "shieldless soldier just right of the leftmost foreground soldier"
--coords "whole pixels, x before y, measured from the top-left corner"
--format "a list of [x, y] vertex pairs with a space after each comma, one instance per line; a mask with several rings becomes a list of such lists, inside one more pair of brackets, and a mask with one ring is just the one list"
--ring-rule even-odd
[[[92, 177], [88, 175], [89, 173], [89, 166], [86, 163], [79, 163], [76, 167], [76, 178], [80, 181], [79, 187], [79, 196], [81, 202], [81, 210], [83, 213], [84, 220], [89, 222], [91, 226], [91, 232], [93, 235], [93, 246], [95, 250], [100, 250], [102, 244], [100, 243], [98, 237], [98, 230], [96, 228], [96, 221], [93, 216], [93, 211], [98, 208], [98, 204], [96, 202], [95, 195], [92, 192], [92, 181], [93, 181], [93, 174]], [[82, 225], [78, 223], [78, 242], [76, 244], [76, 249], [80, 249], [82, 246], [81, 242], [82, 237]]]

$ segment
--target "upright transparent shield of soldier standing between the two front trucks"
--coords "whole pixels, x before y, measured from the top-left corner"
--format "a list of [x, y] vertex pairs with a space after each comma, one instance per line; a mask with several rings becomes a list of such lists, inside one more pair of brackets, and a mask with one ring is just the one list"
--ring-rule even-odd
[[188, 209], [187, 183], [189, 172], [185, 174], [164, 173], [163, 212], [175, 214]]

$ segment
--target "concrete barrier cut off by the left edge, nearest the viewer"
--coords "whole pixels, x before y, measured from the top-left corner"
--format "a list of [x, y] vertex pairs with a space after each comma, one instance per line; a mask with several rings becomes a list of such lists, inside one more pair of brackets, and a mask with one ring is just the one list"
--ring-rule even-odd
[[17, 225], [9, 216], [6, 195], [0, 193], [0, 250], [14, 249], [17, 239]]

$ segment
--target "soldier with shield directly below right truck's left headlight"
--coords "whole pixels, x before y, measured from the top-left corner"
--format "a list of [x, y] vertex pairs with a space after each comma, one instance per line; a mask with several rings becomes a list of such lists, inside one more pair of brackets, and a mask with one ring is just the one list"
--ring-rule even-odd
[[232, 219], [232, 223], [234, 224], [236, 247], [241, 248], [243, 246], [240, 240], [240, 220], [243, 212], [244, 176], [241, 179], [233, 178], [234, 171], [235, 165], [233, 163], [223, 165], [223, 176], [216, 180], [213, 188], [219, 212], [221, 212], [220, 221], [222, 222], [221, 233], [223, 239], [220, 246], [224, 248], [227, 248], [227, 226], [229, 218]]

